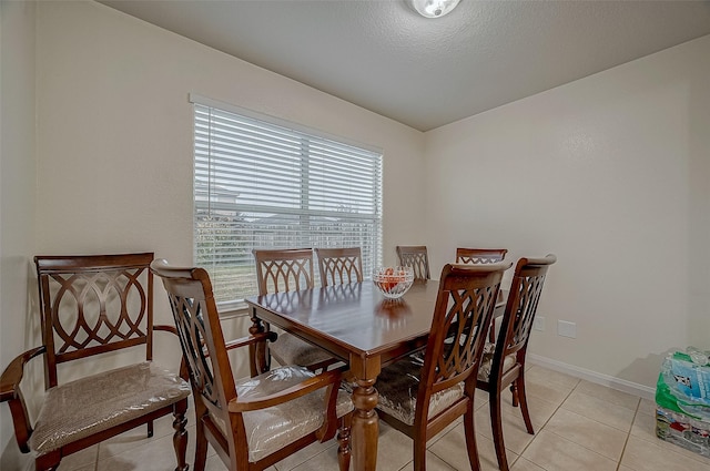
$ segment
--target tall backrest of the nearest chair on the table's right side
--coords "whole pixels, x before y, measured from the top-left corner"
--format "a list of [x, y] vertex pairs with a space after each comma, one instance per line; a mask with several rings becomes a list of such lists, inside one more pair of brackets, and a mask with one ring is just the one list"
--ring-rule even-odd
[[415, 420], [426, 421], [432, 395], [462, 381], [465, 390], [475, 390], [500, 280], [511, 265], [447, 264], [442, 269]]

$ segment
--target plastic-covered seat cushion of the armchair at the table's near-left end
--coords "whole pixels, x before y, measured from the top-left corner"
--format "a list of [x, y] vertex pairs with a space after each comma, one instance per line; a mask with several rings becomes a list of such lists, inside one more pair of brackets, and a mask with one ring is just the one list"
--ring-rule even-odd
[[[241, 400], [255, 400], [283, 391], [315, 375], [302, 367], [281, 367], [254, 378], [235, 381]], [[323, 424], [325, 391], [320, 389], [298, 399], [262, 410], [244, 412], [244, 428], [248, 441], [248, 460], [255, 462], [317, 430]], [[353, 410], [353, 401], [345, 391], [338, 391], [336, 414], [343, 417]], [[213, 417], [226, 434], [225, 423]]]

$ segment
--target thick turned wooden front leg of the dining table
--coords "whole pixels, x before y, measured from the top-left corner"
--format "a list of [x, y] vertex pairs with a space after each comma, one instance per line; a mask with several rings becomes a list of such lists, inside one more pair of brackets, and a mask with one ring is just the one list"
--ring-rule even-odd
[[377, 390], [375, 379], [357, 379], [353, 390], [352, 441], [353, 468], [355, 471], [375, 471], [377, 467], [377, 438], [379, 424], [375, 406], [377, 406]]

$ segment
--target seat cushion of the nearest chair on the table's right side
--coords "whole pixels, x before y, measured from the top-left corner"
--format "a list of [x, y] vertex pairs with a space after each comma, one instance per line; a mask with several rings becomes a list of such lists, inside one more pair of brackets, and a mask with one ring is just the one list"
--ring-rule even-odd
[[[375, 383], [379, 393], [377, 409], [409, 426], [414, 424], [416, 416], [423, 358], [423, 354], [414, 354], [383, 368]], [[435, 393], [429, 400], [427, 419], [435, 417], [463, 396], [463, 382]]]

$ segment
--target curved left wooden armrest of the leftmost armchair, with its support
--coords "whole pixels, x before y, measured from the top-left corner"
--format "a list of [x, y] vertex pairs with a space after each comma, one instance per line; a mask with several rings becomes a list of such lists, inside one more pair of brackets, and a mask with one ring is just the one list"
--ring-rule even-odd
[[20, 381], [22, 381], [24, 373], [24, 364], [44, 352], [47, 352], [44, 346], [26, 351], [16, 357], [4, 371], [2, 371], [2, 376], [0, 377], [0, 402], [9, 402], [12, 424], [14, 427], [14, 437], [23, 453], [30, 451], [27, 442], [32, 434], [32, 426], [30, 426], [30, 416], [27, 412], [24, 398], [20, 390]]

